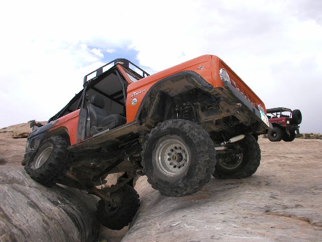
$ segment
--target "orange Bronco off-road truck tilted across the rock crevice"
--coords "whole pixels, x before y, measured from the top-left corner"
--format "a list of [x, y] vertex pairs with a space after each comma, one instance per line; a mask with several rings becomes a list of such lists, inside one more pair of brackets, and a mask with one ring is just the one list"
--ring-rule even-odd
[[[121, 229], [139, 207], [137, 174], [165, 196], [193, 194], [212, 175], [250, 176], [260, 165], [257, 137], [270, 128], [262, 100], [215, 55], [153, 75], [115, 59], [34, 126], [22, 164], [43, 185], [99, 196], [98, 219]], [[117, 185], [103, 188], [116, 172], [124, 172]]]

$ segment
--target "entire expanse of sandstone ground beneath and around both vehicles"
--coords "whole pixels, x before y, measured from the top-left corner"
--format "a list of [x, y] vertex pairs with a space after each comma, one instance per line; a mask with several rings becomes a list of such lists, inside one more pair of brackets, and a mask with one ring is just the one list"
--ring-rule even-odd
[[[12, 139], [12, 132], [13, 128], [0, 130], [0, 195], [4, 201], [0, 241], [24, 241], [30, 231], [30, 241], [91, 241], [88, 233], [97, 236], [95, 229], [100, 226], [94, 199], [70, 188], [47, 189], [31, 180], [20, 165], [26, 139]], [[126, 232], [123, 241], [319, 241], [322, 140], [270, 142], [260, 137], [259, 143], [262, 164], [253, 176], [213, 178], [188, 197], [164, 197], [147, 184], [145, 176], [140, 177], [135, 189], [141, 207], [129, 231], [127, 227], [121, 231], [104, 228], [99, 241], [120, 241]], [[118, 176], [109, 176], [109, 185]], [[62, 202], [66, 200], [70, 202]], [[10, 216], [5, 217], [4, 211]], [[83, 230], [85, 225], [87, 230]], [[13, 237], [8, 239], [8, 233]]]

